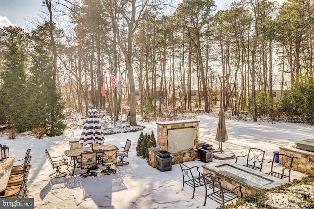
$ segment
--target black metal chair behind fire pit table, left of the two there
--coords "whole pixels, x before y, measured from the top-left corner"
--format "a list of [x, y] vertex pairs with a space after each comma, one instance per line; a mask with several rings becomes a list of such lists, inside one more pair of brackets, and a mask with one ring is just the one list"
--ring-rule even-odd
[[246, 164], [243, 166], [252, 168], [254, 170], [263, 171], [262, 163], [264, 161], [265, 157], [265, 151], [257, 148], [251, 148], [249, 149], [249, 153], [244, 156], [237, 156], [235, 157], [235, 163], [238, 161], [238, 158], [240, 157], [246, 157]]

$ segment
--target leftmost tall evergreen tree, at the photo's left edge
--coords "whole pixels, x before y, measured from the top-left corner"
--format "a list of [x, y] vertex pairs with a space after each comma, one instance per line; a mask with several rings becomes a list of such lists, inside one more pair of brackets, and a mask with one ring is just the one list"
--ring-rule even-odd
[[3, 66], [0, 73], [0, 116], [8, 127], [19, 132], [27, 130], [29, 115], [26, 111], [28, 93], [26, 83], [26, 50], [28, 35], [20, 27], [0, 28], [3, 43]]

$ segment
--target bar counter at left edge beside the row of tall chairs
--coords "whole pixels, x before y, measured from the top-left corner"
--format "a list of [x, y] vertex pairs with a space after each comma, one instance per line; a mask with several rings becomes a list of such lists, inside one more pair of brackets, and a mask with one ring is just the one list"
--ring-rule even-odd
[[6, 189], [14, 160], [15, 155], [11, 155], [10, 157], [4, 158], [0, 161], [0, 194]]

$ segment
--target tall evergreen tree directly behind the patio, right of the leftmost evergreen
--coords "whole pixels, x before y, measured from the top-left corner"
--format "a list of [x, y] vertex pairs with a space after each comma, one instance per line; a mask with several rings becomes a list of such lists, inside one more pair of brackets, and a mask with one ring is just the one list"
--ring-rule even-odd
[[33, 50], [28, 88], [32, 94], [27, 107], [29, 114], [33, 113], [30, 118], [32, 128], [42, 127], [48, 136], [56, 136], [62, 134], [66, 126], [63, 123], [64, 103], [53, 79], [52, 45], [49, 37], [48, 22], [31, 33]]

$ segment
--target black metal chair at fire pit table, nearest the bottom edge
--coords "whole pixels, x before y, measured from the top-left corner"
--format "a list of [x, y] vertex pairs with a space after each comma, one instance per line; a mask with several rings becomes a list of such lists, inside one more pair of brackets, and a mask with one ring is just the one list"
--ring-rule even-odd
[[[211, 173], [202, 174], [203, 181], [205, 183], [205, 200], [204, 206], [206, 204], [206, 199], [209, 197], [210, 199], [216, 201], [220, 205], [225, 205], [225, 203], [234, 200], [236, 198], [242, 198], [242, 186], [235, 186], [232, 190], [225, 189], [221, 186], [220, 177], [212, 177]], [[236, 193], [236, 189], [239, 190], [239, 193]], [[211, 190], [211, 192], [210, 192]], [[210, 192], [210, 193], [208, 193]]]

